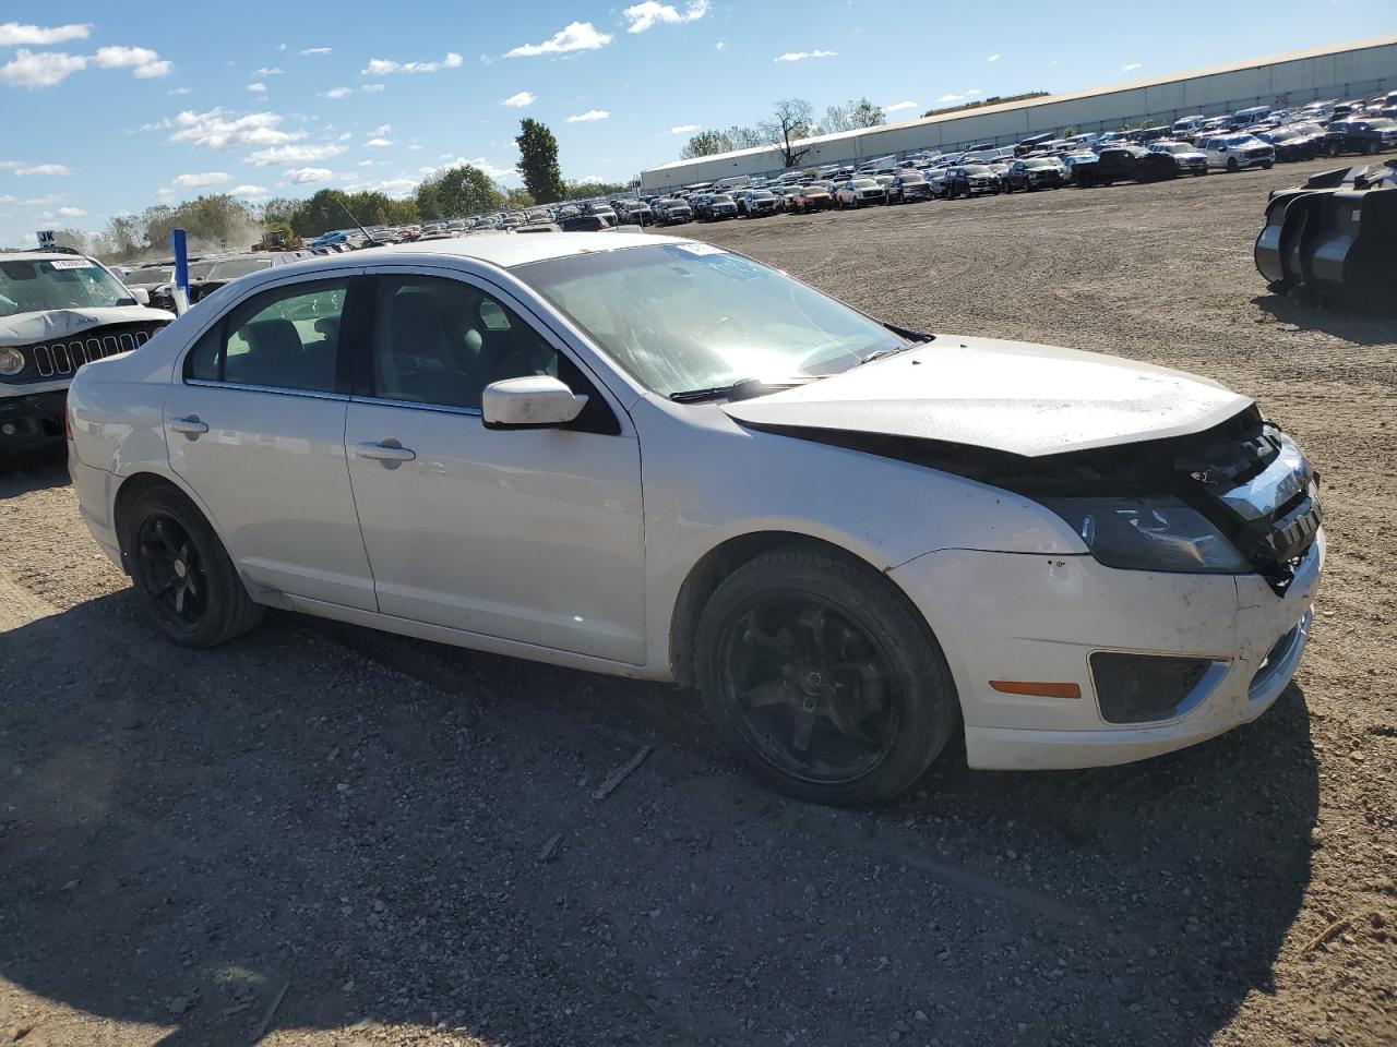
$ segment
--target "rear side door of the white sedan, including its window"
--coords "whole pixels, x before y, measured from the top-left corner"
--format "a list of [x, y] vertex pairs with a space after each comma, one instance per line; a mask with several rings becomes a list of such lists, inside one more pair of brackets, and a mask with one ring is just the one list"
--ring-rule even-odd
[[344, 448], [339, 329], [353, 276], [339, 274], [286, 281], [226, 309], [179, 364], [166, 443], [170, 468], [253, 585], [373, 610]]

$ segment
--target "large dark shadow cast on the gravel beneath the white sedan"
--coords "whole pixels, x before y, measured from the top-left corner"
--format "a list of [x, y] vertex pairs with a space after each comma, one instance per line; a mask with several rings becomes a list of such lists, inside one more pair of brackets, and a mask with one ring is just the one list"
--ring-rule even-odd
[[673, 688], [362, 634], [189, 652], [129, 592], [0, 634], [0, 976], [165, 1047], [278, 995], [275, 1029], [486, 1041], [1172, 1046], [1273, 991], [1309, 881], [1294, 687], [1147, 764], [951, 754], [833, 811]]

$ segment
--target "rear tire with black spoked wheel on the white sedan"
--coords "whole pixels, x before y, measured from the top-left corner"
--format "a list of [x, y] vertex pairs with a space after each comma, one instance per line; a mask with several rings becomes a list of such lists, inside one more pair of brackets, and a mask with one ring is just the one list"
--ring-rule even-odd
[[[183, 491], [136, 496], [117, 521], [123, 560], [161, 631], [187, 648], [226, 644], [261, 621], [224, 543]], [[147, 551], [149, 550], [149, 551]], [[163, 572], [163, 561], [172, 570]]]

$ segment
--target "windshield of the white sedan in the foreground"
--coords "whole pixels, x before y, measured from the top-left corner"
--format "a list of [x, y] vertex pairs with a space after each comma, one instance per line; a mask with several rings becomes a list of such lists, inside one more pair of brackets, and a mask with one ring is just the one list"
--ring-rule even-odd
[[848, 306], [711, 244], [595, 251], [513, 272], [665, 396], [833, 374], [905, 345]]

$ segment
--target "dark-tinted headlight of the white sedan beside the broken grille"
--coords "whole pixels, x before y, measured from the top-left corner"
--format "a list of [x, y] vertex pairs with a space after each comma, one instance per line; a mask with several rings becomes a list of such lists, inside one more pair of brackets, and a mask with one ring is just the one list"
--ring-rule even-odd
[[1197, 510], [1176, 498], [1052, 498], [1044, 505], [1106, 567], [1173, 574], [1243, 574], [1252, 567]]

